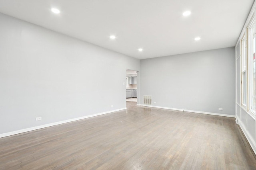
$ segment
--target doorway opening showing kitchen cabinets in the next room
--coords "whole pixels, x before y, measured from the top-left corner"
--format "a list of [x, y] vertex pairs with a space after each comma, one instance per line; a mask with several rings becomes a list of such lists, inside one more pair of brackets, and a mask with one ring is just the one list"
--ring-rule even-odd
[[137, 84], [138, 72], [126, 69], [126, 105], [127, 102], [136, 102], [137, 104]]

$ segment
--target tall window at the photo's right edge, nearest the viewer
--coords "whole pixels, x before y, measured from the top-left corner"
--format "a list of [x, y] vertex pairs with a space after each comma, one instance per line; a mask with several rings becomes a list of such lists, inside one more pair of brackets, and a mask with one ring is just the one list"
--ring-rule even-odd
[[248, 26], [248, 110], [255, 114], [255, 21]]

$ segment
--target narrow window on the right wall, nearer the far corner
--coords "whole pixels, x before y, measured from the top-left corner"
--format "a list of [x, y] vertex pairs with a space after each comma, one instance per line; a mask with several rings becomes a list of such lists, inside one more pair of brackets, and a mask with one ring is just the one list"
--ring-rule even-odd
[[243, 36], [243, 38], [242, 38], [242, 40], [241, 40], [241, 80], [242, 80], [242, 86], [241, 86], [241, 92], [242, 92], [242, 106], [244, 106], [244, 107], [246, 107], [246, 103], [247, 103], [247, 101], [246, 101], [246, 98], [247, 98], [247, 96], [246, 96], [246, 66], [247, 66], [247, 64], [246, 64], [246, 36], [245, 36], [245, 34], [244, 34], [244, 36]]

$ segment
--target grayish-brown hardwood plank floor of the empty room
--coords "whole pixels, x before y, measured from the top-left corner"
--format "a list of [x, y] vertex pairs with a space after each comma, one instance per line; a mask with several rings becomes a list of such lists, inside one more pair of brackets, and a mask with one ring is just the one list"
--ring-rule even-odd
[[0, 139], [1, 170], [255, 170], [234, 118], [136, 106]]

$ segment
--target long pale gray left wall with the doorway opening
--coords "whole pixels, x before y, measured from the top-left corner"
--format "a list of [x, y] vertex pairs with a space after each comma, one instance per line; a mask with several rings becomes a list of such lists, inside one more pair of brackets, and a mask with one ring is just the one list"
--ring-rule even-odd
[[125, 108], [126, 68], [140, 61], [0, 14], [0, 135]]

